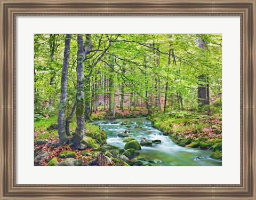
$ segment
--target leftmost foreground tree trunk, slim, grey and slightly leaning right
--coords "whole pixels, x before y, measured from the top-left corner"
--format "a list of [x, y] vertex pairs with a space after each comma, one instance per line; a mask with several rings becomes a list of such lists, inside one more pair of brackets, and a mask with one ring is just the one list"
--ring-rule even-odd
[[58, 114], [58, 134], [59, 134], [59, 145], [66, 145], [69, 139], [65, 132], [65, 110], [67, 101], [67, 91], [68, 91], [68, 65], [69, 65], [69, 53], [70, 53], [70, 39], [71, 34], [67, 34], [65, 38], [65, 50], [61, 74], [61, 93], [60, 93], [60, 107]]

